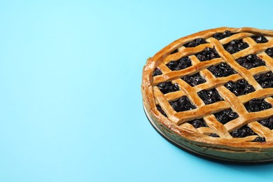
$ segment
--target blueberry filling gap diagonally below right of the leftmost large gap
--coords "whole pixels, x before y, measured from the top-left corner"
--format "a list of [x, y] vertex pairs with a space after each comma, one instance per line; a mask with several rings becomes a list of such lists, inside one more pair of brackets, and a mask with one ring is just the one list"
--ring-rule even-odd
[[190, 100], [186, 96], [183, 96], [174, 102], [169, 102], [169, 104], [171, 104], [172, 108], [176, 112], [195, 109], [195, 106], [190, 102]]

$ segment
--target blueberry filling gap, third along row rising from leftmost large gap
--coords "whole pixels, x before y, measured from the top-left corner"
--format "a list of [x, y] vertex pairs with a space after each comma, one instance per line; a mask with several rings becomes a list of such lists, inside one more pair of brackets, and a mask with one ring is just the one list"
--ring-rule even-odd
[[234, 69], [230, 67], [230, 65], [226, 64], [225, 62], [221, 62], [216, 66], [209, 66], [208, 69], [216, 77], [230, 76], [237, 73]]

